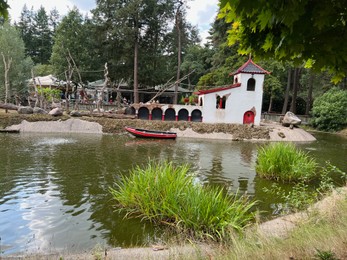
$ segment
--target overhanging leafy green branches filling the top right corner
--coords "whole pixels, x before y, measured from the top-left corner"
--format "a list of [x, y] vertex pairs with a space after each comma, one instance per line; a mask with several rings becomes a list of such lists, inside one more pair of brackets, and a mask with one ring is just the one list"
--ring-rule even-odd
[[220, 0], [220, 17], [232, 23], [228, 40], [257, 58], [303, 62], [315, 70], [346, 75], [345, 1]]

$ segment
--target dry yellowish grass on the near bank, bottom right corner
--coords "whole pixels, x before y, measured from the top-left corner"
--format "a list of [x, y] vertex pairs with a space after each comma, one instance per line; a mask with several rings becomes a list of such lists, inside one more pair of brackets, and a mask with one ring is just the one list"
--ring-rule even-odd
[[[235, 237], [234, 243], [215, 259], [346, 259], [346, 193], [343, 196], [329, 204], [326, 210], [308, 214], [308, 219], [300, 222], [285, 238], [271, 237], [252, 229], [241, 238]], [[324, 255], [331, 258], [322, 258]]]

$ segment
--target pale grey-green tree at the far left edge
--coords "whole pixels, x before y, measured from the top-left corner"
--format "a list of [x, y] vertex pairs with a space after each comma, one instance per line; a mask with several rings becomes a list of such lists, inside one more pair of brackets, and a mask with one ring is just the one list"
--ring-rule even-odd
[[26, 80], [30, 77], [32, 61], [25, 58], [24, 42], [15, 27], [5, 22], [0, 27], [0, 100], [13, 101], [26, 96]]

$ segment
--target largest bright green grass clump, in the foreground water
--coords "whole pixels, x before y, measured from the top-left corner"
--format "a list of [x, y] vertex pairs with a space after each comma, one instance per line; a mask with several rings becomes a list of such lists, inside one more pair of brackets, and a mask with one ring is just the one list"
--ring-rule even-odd
[[151, 161], [123, 176], [110, 192], [127, 217], [169, 225], [199, 239], [225, 239], [253, 219], [254, 201], [228, 195], [222, 188], [204, 188], [189, 169]]

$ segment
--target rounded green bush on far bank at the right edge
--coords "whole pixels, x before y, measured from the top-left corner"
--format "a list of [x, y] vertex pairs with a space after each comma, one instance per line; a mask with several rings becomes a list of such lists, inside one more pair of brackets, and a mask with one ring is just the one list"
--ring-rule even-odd
[[347, 91], [333, 88], [316, 98], [310, 123], [323, 131], [338, 131], [346, 127]]

